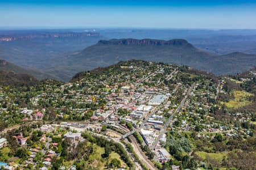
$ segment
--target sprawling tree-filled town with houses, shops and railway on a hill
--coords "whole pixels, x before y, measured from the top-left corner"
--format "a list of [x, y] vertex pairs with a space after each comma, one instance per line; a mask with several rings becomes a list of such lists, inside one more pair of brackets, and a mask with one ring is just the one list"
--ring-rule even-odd
[[226, 79], [186, 66], [131, 60], [68, 83], [1, 87], [0, 167], [228, 167], [226, 145], [236, 144], [226, 143], [250, 140], [255, 128], [253, 114], [228, 112], [218, 101], [225, 86]]

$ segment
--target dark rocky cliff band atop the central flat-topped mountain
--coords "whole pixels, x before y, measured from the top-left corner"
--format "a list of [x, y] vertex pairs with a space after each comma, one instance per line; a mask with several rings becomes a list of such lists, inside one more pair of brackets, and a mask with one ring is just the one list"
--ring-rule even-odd
[[169, 41], [153, 40], [153, 39], [112, 39], [112, 40], [100, 40], [98, 44], [103, 45], [186, 45], [192, 46], [188, 41], [183, 39], [174, 39]]

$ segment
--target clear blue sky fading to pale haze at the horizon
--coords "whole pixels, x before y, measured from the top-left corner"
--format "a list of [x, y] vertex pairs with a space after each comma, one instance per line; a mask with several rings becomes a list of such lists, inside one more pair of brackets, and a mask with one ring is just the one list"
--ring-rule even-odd
[[256, 1], [0, 0], [0, 28], [256, 29]]

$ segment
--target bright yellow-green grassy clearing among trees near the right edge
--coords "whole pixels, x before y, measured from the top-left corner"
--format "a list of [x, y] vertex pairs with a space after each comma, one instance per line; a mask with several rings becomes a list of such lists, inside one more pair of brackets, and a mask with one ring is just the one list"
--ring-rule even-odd
[[233, 94], [234, 99], [224, 103], [228, 108], [240, 108], [251, 103], [247, 98], [253, 94], [246, 91], [234, 91]]

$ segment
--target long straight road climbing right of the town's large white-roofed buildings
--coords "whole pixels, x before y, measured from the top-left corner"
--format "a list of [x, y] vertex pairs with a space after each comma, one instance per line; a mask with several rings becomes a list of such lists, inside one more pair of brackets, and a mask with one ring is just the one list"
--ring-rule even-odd
[[[180, 112], [180, 109], [183, 107], [184, 103], [185, 103], [185, 100], [187, 99], [188, 95], [191, 93], [191, 90], [193, 88], [193, 86], [195, 85], [195, 83], [189, 88], [189, 91], [187, 92], [187, 95], [184, 97], [184, 99], [181, 101], [179, 107], [176, 109], [175, 113], [179, 113]], [[175, 114], [174, 113], [174, 114]], [[163, 129], [160, 130], [160, 133], [158, 135], [158, 138], [156, 138], [155, 142], [153, 143], [152, 146], [150, 146], [150, 149], [151, 150], [154, 150], [156, 145], [158, 145], [158, 142], [160, 141], [160, 138], [163, 137], [163, 134], [166, 133], [166, 128], [168, 126], [168, 124], [170, 123], [170, 121], [172, 120], [172, 118], [174, 117], [174, 114], [172, 114], [172, 116], [170, 116], [168, 118], [168, 120], [166, 121], [166, 123], [164, 124], [163, 126]]]

